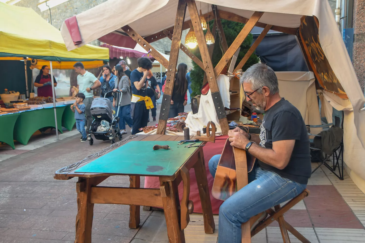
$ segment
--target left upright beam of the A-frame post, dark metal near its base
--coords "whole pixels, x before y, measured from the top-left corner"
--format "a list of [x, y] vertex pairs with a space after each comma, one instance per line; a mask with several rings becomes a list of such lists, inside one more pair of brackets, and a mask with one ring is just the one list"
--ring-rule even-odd
[[186, 1], [179, 0], [175, 19], [175, 28], [170, 49], [170, 60], [166, 73], [165, 91], [162, 96], [160, 118], [157, 126], [157, 134], [165, 134], [167, 119], [169, 118], [170, 102], [174, 88], [177, 59], [180, 51], [181, 34], [186, 13]]

